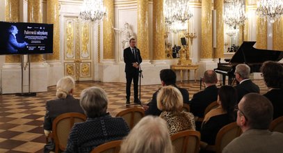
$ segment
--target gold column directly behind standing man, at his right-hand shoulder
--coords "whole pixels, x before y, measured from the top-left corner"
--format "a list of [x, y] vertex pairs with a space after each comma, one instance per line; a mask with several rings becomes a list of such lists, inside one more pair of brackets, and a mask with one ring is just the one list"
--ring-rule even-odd
[[137, 45], [144, 60], [149, 60], [148, 0], [138, 0]]

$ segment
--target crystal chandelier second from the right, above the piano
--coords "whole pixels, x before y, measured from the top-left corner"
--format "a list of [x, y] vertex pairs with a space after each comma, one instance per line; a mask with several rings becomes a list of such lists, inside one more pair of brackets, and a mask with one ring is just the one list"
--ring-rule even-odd
[[245, 5], [242, 0], [229, 1], [225, 6], [224, 23], [236, 27], [245, 24]]

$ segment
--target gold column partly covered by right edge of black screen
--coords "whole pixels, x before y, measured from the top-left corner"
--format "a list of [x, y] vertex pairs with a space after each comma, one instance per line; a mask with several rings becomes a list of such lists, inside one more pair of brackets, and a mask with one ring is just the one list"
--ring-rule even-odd
[[60, 21], [59, 21], [59, 1], [47, 1], [47, 23], [53, 24], [53, 54], [47, 55], [47, 60], [60, 60]]

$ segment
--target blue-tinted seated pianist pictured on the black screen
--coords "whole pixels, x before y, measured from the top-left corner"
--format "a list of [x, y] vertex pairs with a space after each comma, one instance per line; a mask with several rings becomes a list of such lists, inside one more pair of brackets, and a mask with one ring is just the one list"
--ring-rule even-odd
[[16, 34], [18, 33], [18, 29], [17, 26], [10, 26], [10, 28], [8, 29], [9, 31], [9, 38], [8, 38], [8, 42], [6, 45], [6, 49], [7, 51], [9, 51], [10, 53], [17, 53], [17, 49], [19, 48], [24, 48], [26, 47], [26, 45], [28, 45], [28, 43], [23, 42], [23, 43], [19, 43], [17, 42], [16, 39]]

